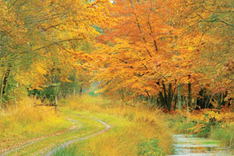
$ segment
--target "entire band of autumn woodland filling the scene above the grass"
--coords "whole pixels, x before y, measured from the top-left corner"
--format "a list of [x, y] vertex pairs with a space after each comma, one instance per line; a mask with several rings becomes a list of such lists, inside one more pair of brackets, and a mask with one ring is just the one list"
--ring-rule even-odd
[[0, 0], [0, 17], [2, 108], [93, 84], [165, 111], [233, 104], [232, 0]]

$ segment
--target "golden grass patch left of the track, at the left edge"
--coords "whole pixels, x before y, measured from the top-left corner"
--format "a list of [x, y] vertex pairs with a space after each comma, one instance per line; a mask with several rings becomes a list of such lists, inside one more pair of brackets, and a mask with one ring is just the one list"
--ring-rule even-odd
[[9, 106], [1, 110], [0, 118], [0, 150], [70, 126], [70, 123], [58, 117], [51, 107], [33, 107], [29, 98], [19, 101], [17, 108]]

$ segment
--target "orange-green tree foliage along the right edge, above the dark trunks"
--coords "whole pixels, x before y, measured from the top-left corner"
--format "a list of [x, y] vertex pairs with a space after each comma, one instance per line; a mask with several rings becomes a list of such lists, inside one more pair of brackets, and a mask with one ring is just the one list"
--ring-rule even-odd
[[193, 70], [200, 74], [197, 79], [200, 88], [212, 90], [213, 95], [228, 91], [227, 97], [231, 98], [233, 79], [225, 66], [234, 59], [232, 2], [205, 0], [177, 1], [176, 4], [178, 13], [173, 16], [173, 23], [183, 30], [180, 45], [192, 46], [199, 53]]

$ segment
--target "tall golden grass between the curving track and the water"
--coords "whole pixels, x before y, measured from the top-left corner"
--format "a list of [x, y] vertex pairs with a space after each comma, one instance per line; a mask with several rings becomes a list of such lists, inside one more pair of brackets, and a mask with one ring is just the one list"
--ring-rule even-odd
[[152, 138], [159, 140], [159, 148], [167, 154], [171, 152], [173, 140], [166, 117], [159, 109], [139, 104], [131, 107], [88, 95], [71, 97], [67, 103], [74, 111], [99, 114], [98, 118], [113, 127], [109, 132], [88, 140], [85, 146], [75, 148], [77, 155], [83, 151], [85, 155], [134, 156], [139, 152], [139, 144]]

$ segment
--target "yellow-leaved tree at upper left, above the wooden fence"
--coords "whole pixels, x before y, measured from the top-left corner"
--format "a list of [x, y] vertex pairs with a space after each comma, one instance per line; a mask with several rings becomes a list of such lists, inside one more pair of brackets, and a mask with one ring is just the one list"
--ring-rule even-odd
[[[15, 20], [15, 25], [12, 24], [6, 29], [12, 33], [18, 33], [20, 32], [18, 28], [22, 27], [24, 33], [17, 35], [20, 37], [19, 41], [24, 41], [21, 42], [26, 48], [21, 46], [18, 49], [12, 49], [15, 56], [7, 61], [8, 64], [15, 62], [16, 59], [22, 61], [20, 68], [17, 65], [18, 70], [12, 73], [14, 83], [19, 86], [31, 86], [31, 89], [42, 89], [43, 85], [69, 81], [68, 77], [74, 70], [77, 73], [84, 70], [87, 65], [82, 63], [87, 58], [84, 58], [86, 54], [81, 43], [91, 44], [92, 38], [97, 36], [98, 31], [94, 25], [105, 24], [103, 18], [108, 17], [108, 11], [105, 8], [110, 2], [10, 0], [2, 3], [5, 6], [3, 11], [6, 12], [3, 14], [8, 14], [7, 11], [15, 12], [12, 17], [15, 16], [14, 19], [16, 19], [17, 15], [17, 19], [21, 22], [19, 25]], [[13, 31], [13, 29], [16, 30]], [[14, 43], [10, 41], [7, 45]], [[19, 45], [18, 42], [16, 43]], [[4, 62], [4, 64], [7, 63]], [[13, 65], [8, 67], [11, 71]], [[3, 82], [9, 83], [9, 81]]]

